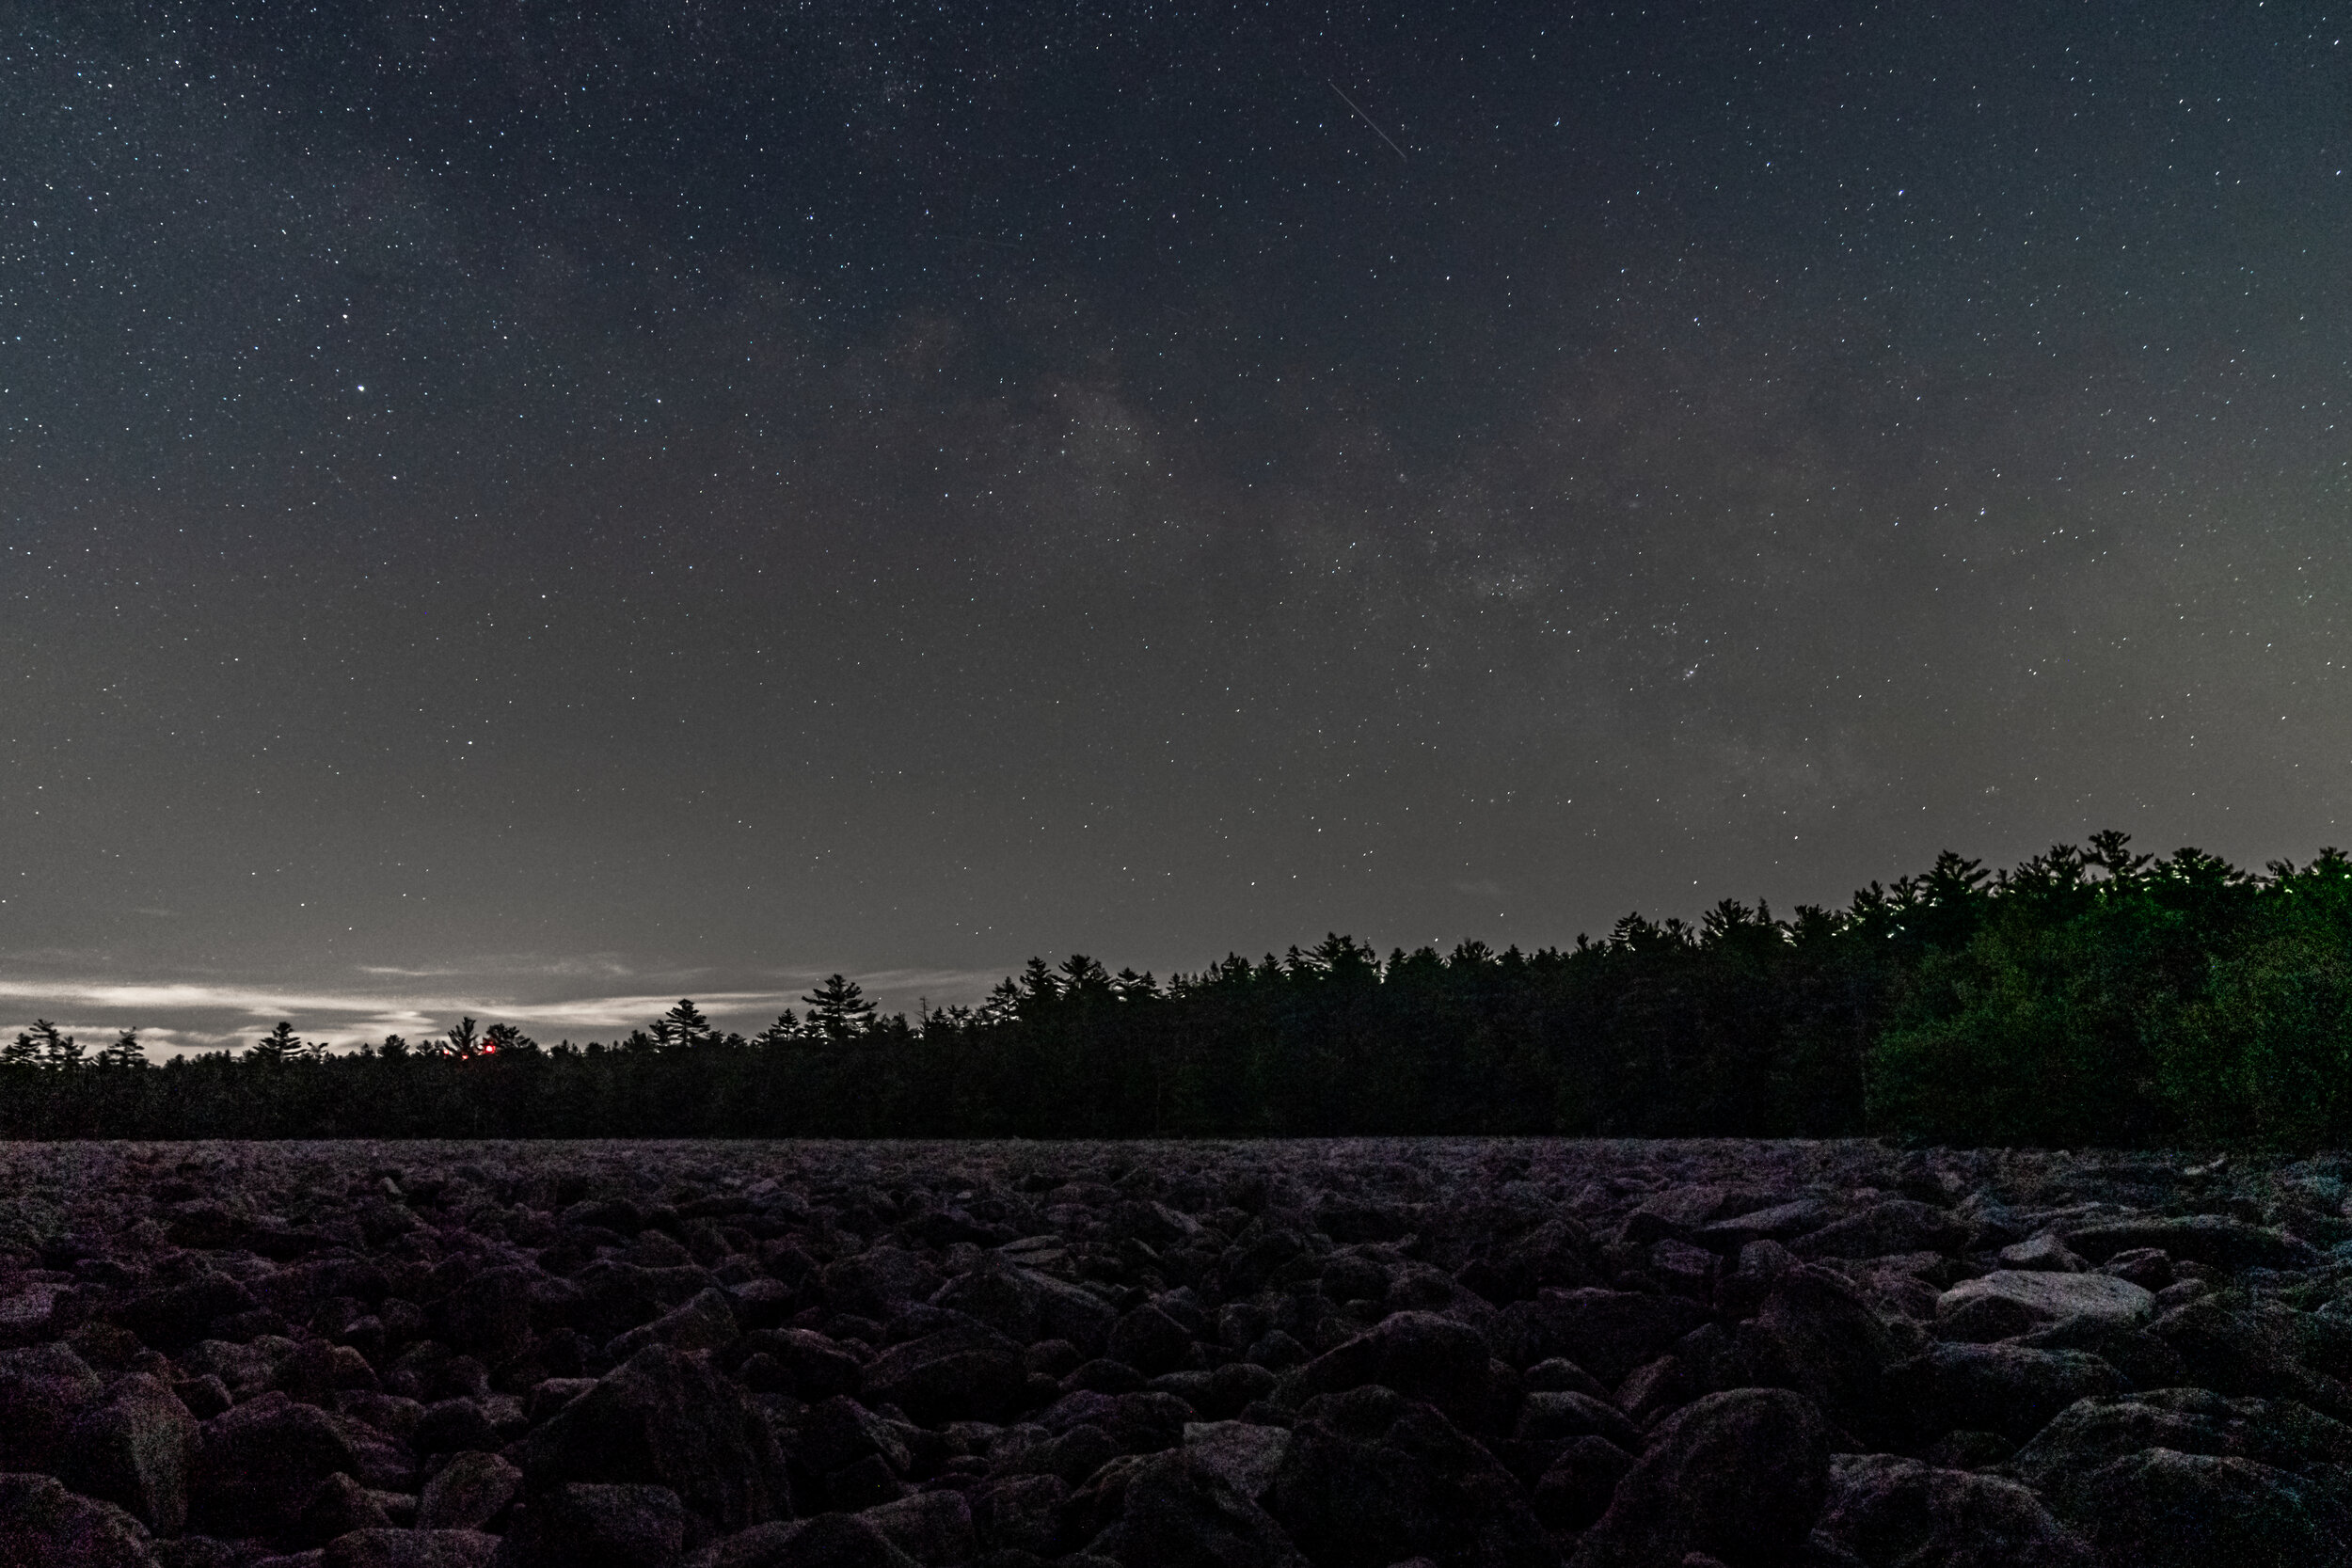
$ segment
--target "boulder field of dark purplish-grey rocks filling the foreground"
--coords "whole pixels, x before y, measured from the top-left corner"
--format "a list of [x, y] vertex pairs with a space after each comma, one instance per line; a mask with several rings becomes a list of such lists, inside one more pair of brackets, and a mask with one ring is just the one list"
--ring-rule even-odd
[[2347, 1175], [0, 1145], [0, 1563], [2352, 1563]]

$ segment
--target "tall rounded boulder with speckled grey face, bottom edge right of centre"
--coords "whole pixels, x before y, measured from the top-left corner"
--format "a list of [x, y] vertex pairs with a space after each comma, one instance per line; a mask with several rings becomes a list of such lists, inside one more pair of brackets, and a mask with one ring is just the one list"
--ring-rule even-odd
[[1651, 1434], [1571, 1568], [1653, 1568], [1693, 1552], [1738, 1563], [1795, 1556], [1828, 1486], [1830, 1434], [1809, 1399], [1708, 1394]]

